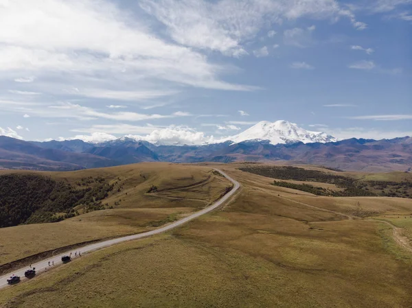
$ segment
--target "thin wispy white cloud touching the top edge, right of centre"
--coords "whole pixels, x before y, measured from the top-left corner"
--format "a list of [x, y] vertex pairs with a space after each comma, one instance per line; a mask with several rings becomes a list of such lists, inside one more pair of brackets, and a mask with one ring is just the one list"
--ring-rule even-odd
[[177, 43], [237, 57], [246, 54], [244, 43], [263, 27], [283, 19], [345, 17], [356, 28], [366, 26], [336, 0], [142, 0], [141, 7], [163, 23]]

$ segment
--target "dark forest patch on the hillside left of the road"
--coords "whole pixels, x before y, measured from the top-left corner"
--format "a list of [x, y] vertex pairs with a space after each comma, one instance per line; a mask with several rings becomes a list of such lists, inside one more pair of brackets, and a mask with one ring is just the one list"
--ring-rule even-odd
[[0, 176], [0, 228], [58, 222], [84, 211], [103, 209], [100, 200], [113, 190], [104, 178], [84, 178], [76, 187], [35, 174]]

